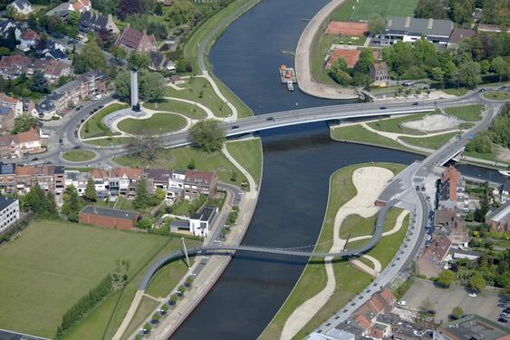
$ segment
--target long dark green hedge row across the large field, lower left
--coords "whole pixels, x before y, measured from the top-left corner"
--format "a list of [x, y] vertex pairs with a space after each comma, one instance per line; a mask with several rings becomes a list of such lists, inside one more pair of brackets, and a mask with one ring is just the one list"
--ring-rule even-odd
[[86, 296], [82, 296], [77, 303], [75, 303], [62, 317], [62, 324], [57, 328], [57, 338], [62, 335], [69, 328], [72, 327], [78, 320], [82, 318], [93, 306], [96, 306], [101, 300], [108, 296], [112, 289], [112, 277], [108, 274], [104, 277], [98, 286], [93, 287]]

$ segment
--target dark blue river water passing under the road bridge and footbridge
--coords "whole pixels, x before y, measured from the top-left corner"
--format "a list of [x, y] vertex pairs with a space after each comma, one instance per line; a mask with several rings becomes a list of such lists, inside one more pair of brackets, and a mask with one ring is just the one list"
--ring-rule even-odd
[[[231, 24], [210, 53], [214, 73], [255, 112], [331, 105], [279, 83], [293, 65], [304, 26], [327, 0], [262, 0]], [[255, 216], [243, 243], [291, 248], [312, 245], [326, 209], [329, 178], [369, 161], [409, 164], [419, 155], [335, 142], [325, 123], [261, 133], [264, 175]], [[471, 170], [472, 171], [472, 170]], [[492, 173], [493, 180], [495, 174]], [[489, 176], [484, 172], [480, 176]], [[223, 276], [172, 339], [255, 339], [303, 271], [305, 261], [238, 252]], [[340, 307], [340, 306], [339, 306]]]

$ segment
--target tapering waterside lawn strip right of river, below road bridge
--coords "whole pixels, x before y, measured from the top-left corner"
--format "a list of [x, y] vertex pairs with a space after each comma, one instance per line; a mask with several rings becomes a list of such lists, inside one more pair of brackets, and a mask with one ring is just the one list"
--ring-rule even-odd
[[380, 136], [379, 134], [372, 131], [368, 131], [359, 124], [334, 128], [332, 130], [332, 139], [335, 141], [361, 142], [371, 145], [379, 145], [382, 147], [389, 147], [397, 150], [409, 151], [405, 146], [399, 144], [399, 142]]

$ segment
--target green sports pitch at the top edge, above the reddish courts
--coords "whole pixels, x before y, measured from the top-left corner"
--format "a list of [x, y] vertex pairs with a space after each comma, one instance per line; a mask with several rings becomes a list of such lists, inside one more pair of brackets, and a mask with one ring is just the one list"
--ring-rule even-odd
[[331, 20], [369, 20], [375, 14], [413, 16], [417, 4], [418, 0], [346, 0], [332, 13]]

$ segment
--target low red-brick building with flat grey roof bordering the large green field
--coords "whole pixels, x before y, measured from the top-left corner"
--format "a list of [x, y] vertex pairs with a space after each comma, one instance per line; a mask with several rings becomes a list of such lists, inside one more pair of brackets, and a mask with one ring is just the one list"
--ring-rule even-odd
[[78, 219], [83, 224], [130, 230], [136, 226], [137, 221], [140, 219], [140, 214], [133, 211], [86, 206], [78, 214]]

